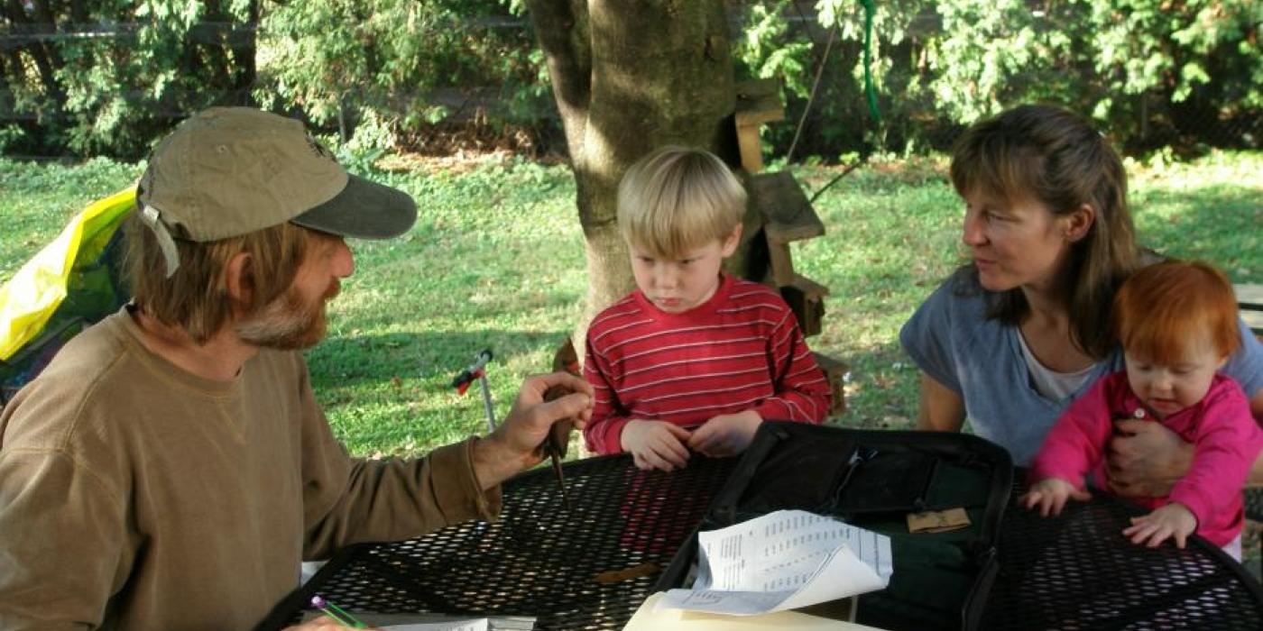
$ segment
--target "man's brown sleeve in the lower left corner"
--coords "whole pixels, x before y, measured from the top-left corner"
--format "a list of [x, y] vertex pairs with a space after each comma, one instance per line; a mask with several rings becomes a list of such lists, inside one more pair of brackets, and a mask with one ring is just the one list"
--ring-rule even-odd
[[126, 506], [63, 452], [0, 452], [0, 628], [96, 628], [126, 578]]

